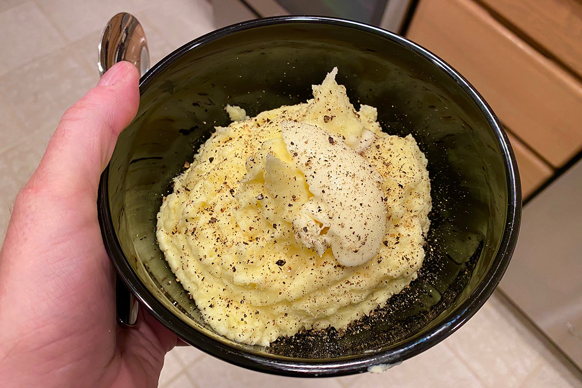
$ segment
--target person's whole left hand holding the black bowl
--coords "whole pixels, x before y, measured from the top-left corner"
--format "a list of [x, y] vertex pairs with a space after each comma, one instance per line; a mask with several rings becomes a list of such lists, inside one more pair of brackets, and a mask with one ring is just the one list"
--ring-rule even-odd
[[113, 66], [63, 115], [16, 198], [0, 252], [4, 387], [155, 387], [176, 337], [140, 311], [115, 318], [115, 270], [97, 220], [97, 188], [139, 106], [133, 65]]

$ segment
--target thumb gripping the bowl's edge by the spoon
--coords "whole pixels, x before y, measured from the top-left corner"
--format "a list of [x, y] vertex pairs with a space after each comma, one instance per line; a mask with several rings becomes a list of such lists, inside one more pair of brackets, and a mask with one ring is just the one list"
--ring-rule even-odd
[[33, 175], [34, 183], [65, 197], [80, 191], [97, 195], [99, 176], [117, 137], [137, 113], [138, 83], [136, 67], [119, 62], [67, 109]]

